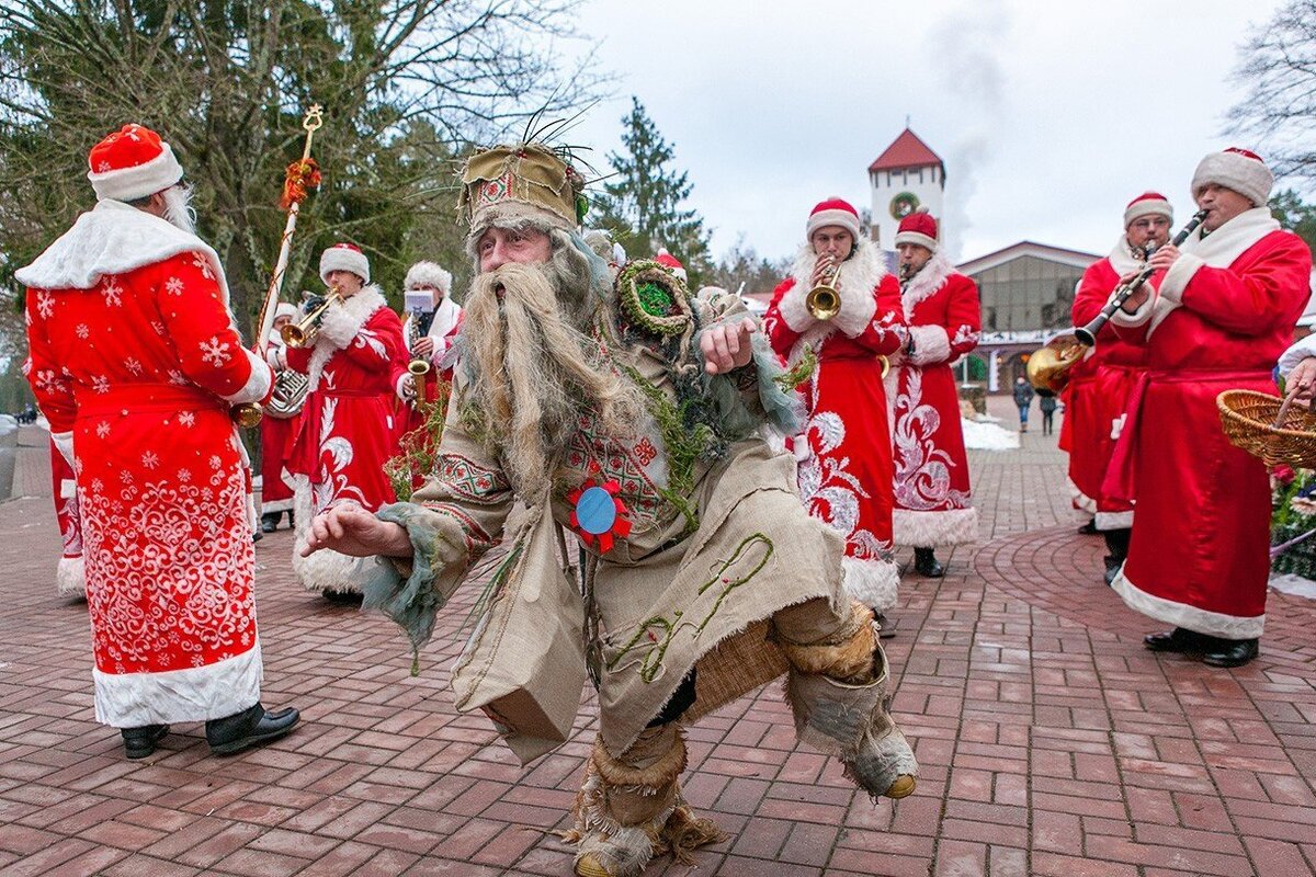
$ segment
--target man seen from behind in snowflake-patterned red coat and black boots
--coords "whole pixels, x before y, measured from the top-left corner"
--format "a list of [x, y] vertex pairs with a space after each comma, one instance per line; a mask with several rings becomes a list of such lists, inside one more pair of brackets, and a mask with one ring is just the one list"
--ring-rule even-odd
[[[287, 734], [261, 706], [246, 460], [229, 418], [271, 372], [242, 347], [168, 143], [125, 125], [91, 150], [97, 204], [14, 276], [28, 379], [78, 476], [96, 719], [130, 759], [171, 722], [212, 752]], [[76, 451], [76, 454], [75, 454]]]

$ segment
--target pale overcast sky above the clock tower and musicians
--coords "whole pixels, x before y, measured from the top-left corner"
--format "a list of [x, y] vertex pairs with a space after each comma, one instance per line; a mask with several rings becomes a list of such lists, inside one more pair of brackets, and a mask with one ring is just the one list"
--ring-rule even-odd
[[908, 114], [946, 163], [953, 256], [1020, 239], [1105, 254], [1132, 196], [1163, 192], [1180, 225], [1198, 160], [1259, 146], [1224, 131], [1229, 74], [1279, 5], [588, 0], [580, 29], [619, 82], [567, 139], [603, 170], [636, 95], [713, 254], [744, 234], [778, 258], [822, 197], [871, 206], [867, 167]]

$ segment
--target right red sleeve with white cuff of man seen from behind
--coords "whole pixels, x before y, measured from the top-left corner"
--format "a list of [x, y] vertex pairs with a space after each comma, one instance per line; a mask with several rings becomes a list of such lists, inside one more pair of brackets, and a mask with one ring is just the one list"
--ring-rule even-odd
[[259, 402], [274, 371], [242, 346], [215, 267], [200, 252], [183, 252], [157, 266], [155, 301], [182, 372], [229, 402]]

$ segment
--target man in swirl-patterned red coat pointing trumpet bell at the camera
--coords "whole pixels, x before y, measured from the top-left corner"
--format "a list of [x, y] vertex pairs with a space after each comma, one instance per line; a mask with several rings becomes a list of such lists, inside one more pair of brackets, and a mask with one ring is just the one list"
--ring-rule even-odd
[[[809, 513], [845, 534], [845, 586], [884, 613], [896, 602], [899, 571], [891, 554], [891, 427], [882, 373], [908, 334], [900, 284], [882, 254], [859, 234], [859, 214], [841, 199], [809, 213], [808, 242], [791, 276], [772, 293], [763, 327], [772, 350], [792, 366], [817, 358], [800, 385], [808, 425], [796, 443], [800, 496]], [[840, 267], [840, 275], [832, 277]], [[836, 316], [807, 306], [811, 289], [829, 281], [840, 295]]]

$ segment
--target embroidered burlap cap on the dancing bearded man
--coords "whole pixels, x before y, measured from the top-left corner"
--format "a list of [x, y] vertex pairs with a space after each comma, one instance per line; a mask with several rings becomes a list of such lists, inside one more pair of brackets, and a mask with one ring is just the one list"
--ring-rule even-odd
[[542, 143], [495, 146], [462, 170], [457, 209], [471, 237], [503, 222], [540, 221], [574, 230], [584, 213], [584, 179]]

